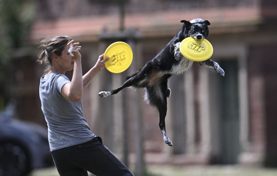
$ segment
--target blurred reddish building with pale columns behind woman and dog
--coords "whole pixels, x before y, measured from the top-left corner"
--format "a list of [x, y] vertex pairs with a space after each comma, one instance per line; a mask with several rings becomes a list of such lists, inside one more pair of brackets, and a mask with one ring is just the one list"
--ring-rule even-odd
[[[37, 1], [37, 20], [29, 38], [37, 51], [43, 38], [69, 35], [82, 45], [84, 73], [114, 41], [132, 47], [130, 68], [119, 74], [103, 70], [84, 92], [86, 119], [106, 146], [129, 154], [131, 162], [141, 138], [147, 163], [277, 166], [277, 2], [122, 2], [124, 11], [113, 0]], [[171, 77], [166, 125], [173, 147], [169, 147], [163, 142], [158, 112], [143, 102], [143, 89], [124, 89], [107, 98], [98, 92], [119, 87], [167, 45], [181, 29], [181, 20], [194, 18], [211, 22], [211, 59], [226, 76], [195, 62], [190, 71]], [[18, 113], [45, 124], [38, 97], [42, 68], [35, 63], [36, 54], [20, 55], [17, 62]]]

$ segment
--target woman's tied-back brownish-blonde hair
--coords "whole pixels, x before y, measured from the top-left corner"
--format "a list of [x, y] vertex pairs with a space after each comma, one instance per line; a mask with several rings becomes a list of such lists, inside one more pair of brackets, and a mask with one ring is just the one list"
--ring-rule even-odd
[[50, 71], [52, 65], [52, 56], [62, 54], [63, 47], [67, 45], [72, 39], [69, 36], [47, 37], [43, 39], [38, 47], [40, 53], [38, 54], [38, 63], [44, 66], [42, 75], [45, 75]]

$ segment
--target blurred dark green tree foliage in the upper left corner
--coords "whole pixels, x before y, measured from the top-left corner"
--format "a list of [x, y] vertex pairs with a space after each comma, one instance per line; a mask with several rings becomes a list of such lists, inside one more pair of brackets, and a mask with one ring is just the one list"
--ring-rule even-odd
[[33, 0], [0, 0], [0, 110], [12, 96], [14, 51], [26, 45], [34, 16]]

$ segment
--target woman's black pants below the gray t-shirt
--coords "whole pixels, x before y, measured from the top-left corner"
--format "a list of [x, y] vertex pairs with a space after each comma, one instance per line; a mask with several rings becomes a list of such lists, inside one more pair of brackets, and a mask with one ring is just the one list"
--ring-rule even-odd
[[105, 146], [100, 137], [51, 152], [61, 176], [134, 176]]

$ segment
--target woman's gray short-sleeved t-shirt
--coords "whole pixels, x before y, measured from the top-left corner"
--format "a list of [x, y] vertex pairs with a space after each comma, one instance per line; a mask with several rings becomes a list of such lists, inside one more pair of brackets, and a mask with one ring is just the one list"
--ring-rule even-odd
[[69, 82], [60, 73], [40, 79], [39, 96], [48, 126], [50, 151], [85, 143], [95, 137], [84, 118], [82, 100], [72, 102], [61, 94], [62, 86]]

